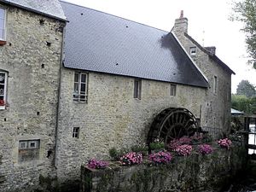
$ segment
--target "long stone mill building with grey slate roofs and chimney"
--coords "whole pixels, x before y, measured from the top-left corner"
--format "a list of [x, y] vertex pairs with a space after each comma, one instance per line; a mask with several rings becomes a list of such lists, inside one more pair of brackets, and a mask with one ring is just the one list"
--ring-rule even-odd
[[0, 21], [1, 191], [76, 185], [81, 164], [146, 143], [168, 108], [229, 131], [233, 72], [183, 15], [165, 32], [57, 0], [2, 0]]

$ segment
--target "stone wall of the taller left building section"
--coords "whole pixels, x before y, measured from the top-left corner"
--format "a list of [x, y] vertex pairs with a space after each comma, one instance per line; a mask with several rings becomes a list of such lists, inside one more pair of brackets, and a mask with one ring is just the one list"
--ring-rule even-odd
[[[38, 188], [39, 177], [55, 177], [64, 23], [3, 3], [0, 6], [7, 11], [7, 44], [0, 46], [0, 70], [8, 72], [7, 108], [0, 110], [0, 191], [28, 192]], [[20, 140], [39, 141], [34, 160], [19, 161]]]

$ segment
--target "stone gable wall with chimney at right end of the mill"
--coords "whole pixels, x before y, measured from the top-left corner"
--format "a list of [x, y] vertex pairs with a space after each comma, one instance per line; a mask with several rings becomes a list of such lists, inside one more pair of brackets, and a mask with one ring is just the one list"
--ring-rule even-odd
[[[172, 32], [175, 33], [191, 59], [195, 61], [195, 65], [207, 77], [210, 85], [205, 98], [206, 102], [202, 105], [201, 125], [209, 131], [213, 128], [228, 133], [230, 131], [231, 73], [213, 61], [200, 48], [201, 46], [195, 44], [185, 35], [188, 32], [187, 18], [177, 19]], [[189, 54], [191, 47], [196, 48], [195, 55]], [[217, 77], [216, 93], [214, 92], [214, 76]]]

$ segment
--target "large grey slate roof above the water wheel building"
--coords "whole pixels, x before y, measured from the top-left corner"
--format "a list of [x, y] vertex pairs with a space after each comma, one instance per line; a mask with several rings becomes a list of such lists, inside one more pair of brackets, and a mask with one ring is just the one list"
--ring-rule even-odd
[[64, 67], [207, 87], [170, 32], [61, 2], [67, 16]]

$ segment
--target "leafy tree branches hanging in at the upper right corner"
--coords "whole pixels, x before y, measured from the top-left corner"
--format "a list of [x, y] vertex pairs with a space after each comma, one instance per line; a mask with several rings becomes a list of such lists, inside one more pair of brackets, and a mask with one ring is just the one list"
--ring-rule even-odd
[[244, 23], [242, 30], [246, 33], [247, 51], [252, 57], [249, 60], [256, 69], [256, 0], [242, 0], [235, 3], [233, 20]]

